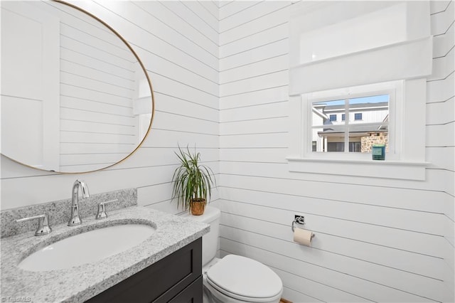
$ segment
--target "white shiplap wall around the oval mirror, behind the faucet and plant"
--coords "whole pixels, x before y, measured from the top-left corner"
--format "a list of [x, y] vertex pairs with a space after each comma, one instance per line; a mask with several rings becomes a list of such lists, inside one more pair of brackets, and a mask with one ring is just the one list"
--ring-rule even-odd
[[[80, 178], [90, 193], [138, 188], [139, 204], [177, 213], [170, 199], [178, 144], [196, 144], [218, 174], [218, 6], [213, 1], [75, 4], [112, 26], [141, 58], [154, 87], [153, 129], [127, 161], [90, 174], [38, 171], [2, 156], [1, 208], [69, 198]], [[215, 191], [212, 199], [217, 198]]]

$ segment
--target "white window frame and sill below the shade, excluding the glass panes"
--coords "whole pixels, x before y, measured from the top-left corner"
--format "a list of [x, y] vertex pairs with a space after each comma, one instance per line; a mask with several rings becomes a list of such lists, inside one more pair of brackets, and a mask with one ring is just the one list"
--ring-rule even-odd
[[[421, 78], [290, 96], [289, 171], [423, 181], [429, 164], [425, 161], [424, 146], [426, 87], [426, 80]], [[389, 135], [390, 129], [394, 129], [390, 139], [393, 151], [386, 155], [385, 161], [373, 160], [371, 154], [311, 151], [309, 100], [336, 100], [333, 99], [336, 92], [338, 96], [356, 96], [394, 90], [395, 102], [390, 102], [389, 122]]]

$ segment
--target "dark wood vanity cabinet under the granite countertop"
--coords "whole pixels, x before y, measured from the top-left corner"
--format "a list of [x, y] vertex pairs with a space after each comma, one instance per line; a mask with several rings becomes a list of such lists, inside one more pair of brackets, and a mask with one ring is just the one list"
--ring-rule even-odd
[[198, 238], [87, 302], [199, 303], [202, 293], [202, 238]]

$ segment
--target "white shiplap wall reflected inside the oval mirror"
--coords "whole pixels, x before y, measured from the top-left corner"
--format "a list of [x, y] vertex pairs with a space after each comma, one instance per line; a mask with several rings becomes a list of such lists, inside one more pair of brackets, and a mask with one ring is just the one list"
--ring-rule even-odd
[[60, 18], [60, 170], [114, 164], [140, 142], [133, 113], [139, 63], [94, 18], [58, 3], [37, 4]]

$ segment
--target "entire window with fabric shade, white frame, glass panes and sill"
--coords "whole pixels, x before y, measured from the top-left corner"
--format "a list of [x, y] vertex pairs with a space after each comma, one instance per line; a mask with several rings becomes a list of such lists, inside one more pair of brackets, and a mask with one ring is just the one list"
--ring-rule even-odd
[[[289, 23], [289, 171], [330, 180], [333, 175], [425, 180], [425, 101], [434, 61], [427, 2], [310, 3], [294, 4]], [[326, 18], [328, 11], [340, 14]], [[364, 38], [353, 36], [353, 28], [360, 28]], [[369, 122], [365, 110], [350, 108], [355, 98], [378, 95], [389, 95], [389, 116], [375, 125], [369, 139], [381, 134], [384, 139], [387, 131], [385, 161], [362, 152], [366, 136], [355, 139], [353, 130], [375, 122]], [[343, 100], [345, 111], [330, 121], [338, 114], [321, 115], [319, 107], [336, 100]], [[355, 119], [356, 113], [361, 119]], [[313, 115], [322, 116], [319, 124]]]

